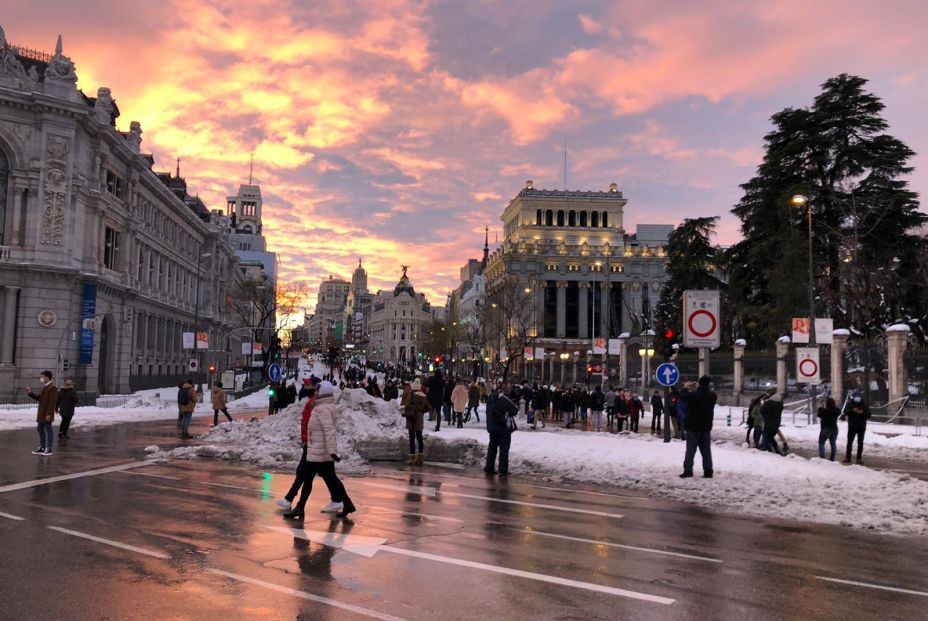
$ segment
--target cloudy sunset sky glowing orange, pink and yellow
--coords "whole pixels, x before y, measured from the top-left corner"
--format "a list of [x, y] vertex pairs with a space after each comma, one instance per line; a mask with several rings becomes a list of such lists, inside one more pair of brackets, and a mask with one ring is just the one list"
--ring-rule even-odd
[[79, 86], [112, 89], [157, 170], [210, 208], [248, 179], [282, 278], [315, 291], [409, 276], [444, 303], [484, 227], [536, 188], [628, 199], [625, 228], [721, 216], [769, 118], [829, 77], [870, 80], [928, 189], [928, 3], [805, 0], [0, 0], [14, 44], [60, 33]]

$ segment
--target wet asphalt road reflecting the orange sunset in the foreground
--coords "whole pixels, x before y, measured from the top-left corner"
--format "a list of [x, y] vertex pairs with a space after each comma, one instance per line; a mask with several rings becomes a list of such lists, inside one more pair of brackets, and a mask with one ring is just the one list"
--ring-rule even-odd
[[345, 478], [351, 521], [319, 513], [317, 482], [289, 531], [289, 473], [129, 467], [175, 434], [76, 430], [41, 458], [33, 431], [0, 432], [0, 619], [925, 618], [921, 538], [393, 464]]

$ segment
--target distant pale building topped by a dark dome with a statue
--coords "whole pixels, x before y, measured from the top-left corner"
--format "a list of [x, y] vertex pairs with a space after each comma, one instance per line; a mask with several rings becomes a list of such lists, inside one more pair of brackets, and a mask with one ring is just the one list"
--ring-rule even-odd
[[368, 360], [396, 367], [415, 366], [423, 336], [435, 321], [425, 295], [416, 293], [406, 268], [393, 291], [378, 291], [371, 306]]

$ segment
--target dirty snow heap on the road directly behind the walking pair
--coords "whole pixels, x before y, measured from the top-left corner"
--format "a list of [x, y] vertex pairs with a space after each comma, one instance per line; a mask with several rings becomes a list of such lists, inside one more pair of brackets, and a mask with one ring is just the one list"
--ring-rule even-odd
[[[405, 419], [396, 401], [375, 399], [362, 389], [335, 391], [338, 417], [340, 471], [367, 472], [367, 462], [356, 443], [366, 439], [397, 437], [405, 429]], [[300, 460], [300, 417], [305, 401], [294, 403], [274, 416], [251, 421], [236, 420], [213, 428], [200, 436], [203, 444], [171, 451], [150, 450], [152, 458], [193, 459], [211, 457], [254, 463], [262, 468], [295, 468]], [[149, 447], [152, 448], [152, 447]]]

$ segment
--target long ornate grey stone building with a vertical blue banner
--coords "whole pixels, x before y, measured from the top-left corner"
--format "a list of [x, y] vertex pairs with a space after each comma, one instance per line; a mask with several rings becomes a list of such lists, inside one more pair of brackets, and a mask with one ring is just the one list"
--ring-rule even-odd
[[197, 326], [210, 360], [239, 351], [228, 225], [154, 171], [139, 123], [116, 128], [108, 88], [76, 82], [60, 37], [45, 54], [0, 29], [0, 401], [46, 368], [90, 397], [170, 386]]

